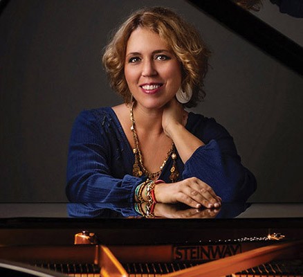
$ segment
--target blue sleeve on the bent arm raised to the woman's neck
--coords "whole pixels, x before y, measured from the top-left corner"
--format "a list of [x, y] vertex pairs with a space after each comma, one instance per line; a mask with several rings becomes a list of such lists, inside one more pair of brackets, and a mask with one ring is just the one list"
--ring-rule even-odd
[[223, 202], [245, 202], [256, 189], [256, 179], [242, 166], [232, 136], [212, 118], [194, 132], [205, 145], [185, 163], [183, 179], [201, 179]]

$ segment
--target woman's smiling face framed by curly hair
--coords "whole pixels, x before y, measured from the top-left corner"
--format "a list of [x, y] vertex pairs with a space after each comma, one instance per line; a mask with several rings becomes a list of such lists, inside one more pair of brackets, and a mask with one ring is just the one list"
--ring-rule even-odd
[[181, 65], [158, 34], [137, 28], [127, 42], [125, 79], [138, 105], [158, 109], [181, 87]]

